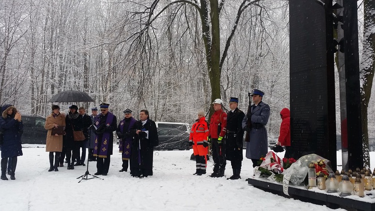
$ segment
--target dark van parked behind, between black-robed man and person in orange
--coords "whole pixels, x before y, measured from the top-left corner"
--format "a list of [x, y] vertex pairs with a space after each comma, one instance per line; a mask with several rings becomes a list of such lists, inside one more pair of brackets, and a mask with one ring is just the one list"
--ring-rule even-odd
[[158, 128], [159, 145], [154, 149], [189, 150], [189, 133], [175, 128]]

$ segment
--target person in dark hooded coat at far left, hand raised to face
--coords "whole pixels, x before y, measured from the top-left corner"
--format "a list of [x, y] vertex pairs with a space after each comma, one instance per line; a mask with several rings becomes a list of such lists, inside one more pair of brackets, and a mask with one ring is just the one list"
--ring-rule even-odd
[[23, 124], [21, 114], [13, 105], [5, 104], [1, 107], [0, 128], [3, 135], [1, 145], [1, 179], [6, 177], [6, 164], [11, 157], [10, 179], [15, 179], [14, 172], [17, 165], [17, 156], [22, 155], [21, 135]]

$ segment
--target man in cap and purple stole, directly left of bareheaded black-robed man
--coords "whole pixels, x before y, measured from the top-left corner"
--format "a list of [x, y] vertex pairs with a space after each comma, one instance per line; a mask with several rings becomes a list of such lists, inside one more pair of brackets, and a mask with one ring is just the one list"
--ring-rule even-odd
[[119, 170], [120, 172], [127, 171], [129, 166], [131, 142], [134, 136], [134, 134], [130, 133], [130, 128], [136, 122], [135, 118], [131, 116], [130, 109], [127, 108], [123, 113], [125, 113], [125, 117], [118, 123], [116, 129], [116, 134], [120, 138], [118, 148], [122, 155], [122, 169]]

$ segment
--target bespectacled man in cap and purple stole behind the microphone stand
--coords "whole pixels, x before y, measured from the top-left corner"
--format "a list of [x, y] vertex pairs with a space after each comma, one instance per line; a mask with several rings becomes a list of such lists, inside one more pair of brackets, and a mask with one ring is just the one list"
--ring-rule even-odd
[[116, 116], [108, 111], [109, 104], [100, 104], [100, 114], [96, 115], [93, 124], [95, 128], [95, 141], [93, 156], [96, 156], [95, 175], [107, 175], [110, 155], [113, 151], [113, 131], [117, 128]]

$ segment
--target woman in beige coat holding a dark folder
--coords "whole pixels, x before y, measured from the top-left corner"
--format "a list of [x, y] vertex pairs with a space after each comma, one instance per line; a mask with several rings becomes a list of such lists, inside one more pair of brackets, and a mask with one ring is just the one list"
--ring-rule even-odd
[[[58, 171], [60, 152], [62, 151], [62, 135], [51, 134], [52, 128], [65, 126], [65, 116], [60, 113], [58, 105], [52, 105], [52, 113], [45, 119], [44, 128], [48, 129], [45, 151], [49, 151], [49, 169], [48, 171]], [[53, 152], [55, 152], [53, 163]]]

